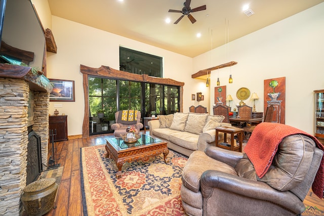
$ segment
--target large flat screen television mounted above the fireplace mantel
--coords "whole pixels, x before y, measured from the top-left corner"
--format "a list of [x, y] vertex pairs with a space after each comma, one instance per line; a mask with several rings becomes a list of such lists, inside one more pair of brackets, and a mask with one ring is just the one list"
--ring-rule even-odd
[[[45, 32], [30, 0], [0, 0], [0, 42], [34, 54], [29, 67], [43, 70]], [[1, 48], [1, 47], [0, 47]], [[0, 51], [1, 63], [14, 59]], [[7, 58], [8, 57], [8, 58]], [[7, 58], [7, 60], [6, 60]]]

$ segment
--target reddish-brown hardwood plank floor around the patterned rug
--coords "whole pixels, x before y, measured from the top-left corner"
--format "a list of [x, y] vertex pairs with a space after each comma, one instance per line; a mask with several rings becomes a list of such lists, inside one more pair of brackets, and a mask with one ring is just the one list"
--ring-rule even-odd
[[[49, 211], [47, 216], [83, 215], [82, 194], [80, 181], [80, 148], [105, 144], [106, 136], [91, 136], [57, 142], [57, 163], [64, 166], [61, 183], [56, 197], [56, 208]], [[304, 200], [305, 206], [317, 207], [324, 211], [324, 199], [320, 200], [310, 190]], [[310, 215], [305, 212], [302, 215]], [[321, 214], [324, 215], [324, 214]], [[91, 215], [90, 215], [91, 216]]]

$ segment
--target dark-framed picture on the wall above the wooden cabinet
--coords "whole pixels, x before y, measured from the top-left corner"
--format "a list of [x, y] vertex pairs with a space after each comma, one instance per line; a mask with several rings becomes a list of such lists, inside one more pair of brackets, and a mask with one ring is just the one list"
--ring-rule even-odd
[[50, 101], [75, 101], [74, 81], [62, 79], [49, 79], [53, 85]]

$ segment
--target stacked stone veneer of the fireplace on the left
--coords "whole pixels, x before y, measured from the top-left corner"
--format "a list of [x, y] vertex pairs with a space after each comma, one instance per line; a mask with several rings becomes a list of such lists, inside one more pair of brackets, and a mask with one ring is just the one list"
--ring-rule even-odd
[[[20, 197], [27, 176], [28, 99], [28, 82], [0, 78], [0, 215], [22, 213]], [[34, 101], [32, 128], [42, 137], [42, 161], [47, 164], [49, 94], [34, 92]]]

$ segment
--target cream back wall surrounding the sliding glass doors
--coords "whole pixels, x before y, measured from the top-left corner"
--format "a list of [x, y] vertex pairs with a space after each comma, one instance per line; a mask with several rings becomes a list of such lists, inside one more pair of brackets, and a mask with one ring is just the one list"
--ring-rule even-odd
[[[85, 100], [80, 64], [94, 68], [104, 65], [118, 69], [119, 46], [163, 57], [164, 77], [185, 83], [185, 112], [188, 112], [189, 106], [192, 105], [191, 94], [202, 91], [199, 89], [199, 81], [191, 78], [192, 58], [56, 16], [52, 17], [52, 31], [57, 53], [47, 53], [48, 78], [75, 82], [75, 102], [50, 103], [50, 114], [57, 109], [60, 113], [68, 115], [68, 136], [82, 134]], [[55, 104], [61, 104], [62, 108], [54, 108]]]

